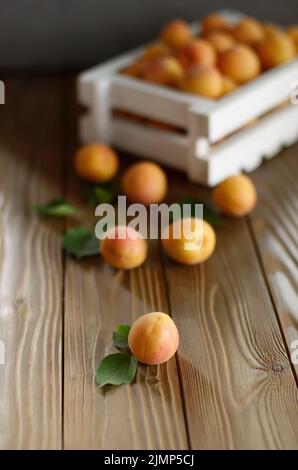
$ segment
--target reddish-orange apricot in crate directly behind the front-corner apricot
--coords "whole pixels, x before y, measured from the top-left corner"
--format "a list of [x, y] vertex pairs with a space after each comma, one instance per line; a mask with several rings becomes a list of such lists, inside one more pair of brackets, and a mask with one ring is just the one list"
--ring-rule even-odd
[[192, 39], [179, 50], [177, 58], [185, 70], [193, 65], [215, 65], [216, 51], [206, 39]]

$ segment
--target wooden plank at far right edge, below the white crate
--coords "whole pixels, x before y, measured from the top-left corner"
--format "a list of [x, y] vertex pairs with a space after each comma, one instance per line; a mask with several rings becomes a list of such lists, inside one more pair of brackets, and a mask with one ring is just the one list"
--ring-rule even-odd
[[[259, 195], [251, 216], [253, 236], [289, 355], [298, 341], [297, 157], [295, 145], [252, 175]], [[298, 377], [298, 364], [293, 368]]]

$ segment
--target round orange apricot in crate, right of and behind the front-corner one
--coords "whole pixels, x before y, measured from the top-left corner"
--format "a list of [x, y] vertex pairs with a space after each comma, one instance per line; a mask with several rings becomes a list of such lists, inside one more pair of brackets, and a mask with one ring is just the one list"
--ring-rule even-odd
[[220, 54], [218, 67], [224, 75], [232, 78], [236, 83], [248, 82], [261, 71], [257, 54], [244, 44], [238, 44]]

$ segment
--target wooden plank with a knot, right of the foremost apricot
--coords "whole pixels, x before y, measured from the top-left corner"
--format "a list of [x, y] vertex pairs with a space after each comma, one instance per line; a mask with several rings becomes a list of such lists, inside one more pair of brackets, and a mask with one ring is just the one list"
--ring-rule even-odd
[[203, 265], [164, 263], [191, 447], [298, 448], [297, 388], [245, 221], [217, 230]]

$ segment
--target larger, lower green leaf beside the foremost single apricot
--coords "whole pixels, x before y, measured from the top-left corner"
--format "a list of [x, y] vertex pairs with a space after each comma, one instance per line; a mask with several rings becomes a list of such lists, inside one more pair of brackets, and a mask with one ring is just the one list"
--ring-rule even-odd
[[110, 354], [105, 357], [96, 371], [96, 382], [104, 385], [121, 385], [131, 383], [137, 372], [137, 360], [123, 353]]

